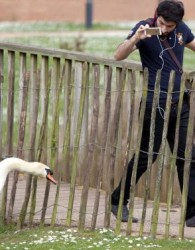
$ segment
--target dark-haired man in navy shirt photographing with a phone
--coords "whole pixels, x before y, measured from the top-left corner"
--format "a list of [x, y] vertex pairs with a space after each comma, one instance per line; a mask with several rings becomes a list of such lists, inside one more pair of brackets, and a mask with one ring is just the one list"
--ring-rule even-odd
[[[167, 40], [169, 46], [177, 55], [177, 58], [181, 65], [183, 65], [184, 48], [187, 47], [192, 51], [195, 51], [195, 38], [190, 28], [182, 21], [184, 16], [184, 6], [180, 1], [165, 0], [159, 3], [154, 18], [140, 21], [130, 32], [127, 39], [119, 45], [115, 53], [116, 60], [123, 60], [132, 53], [135, 49], [139, 50], [140, 58], [143, 68], [147, 67], [149, 70], [148, 81], [148, 97], [146, 103], [146, 111], [143, 124], [143, 135], [141, 140], [141, 150], [138, 161], [138, 170], [136, 176], [136, 182], [138, 182], [141, 175], [147, 169], [148, 162], [148, 144], [150, 135], [150, 119], [152, 113], [152, 101], [153, 90], [155, 85], [156, 73], [159, 69], [162, 70], [160, 81], [160, 95], [156, 110], [155, 120], [155, 138], [153, 147], [153, 162], [156, 160], [159, 148], [162, 141], [163, 123], [164, 123], [164, 110], [168, 91], [168, 82], [170, 72], [175, 71], [175, 83], [172, 94], [172, 103], [169, 126], [167, 132], [167, 140], [170, 149], [173, 151], [174, 136], [177, 117], [177, 103], [179, 100], [181, 71], [178, 65], [168, 52], [167, 47], [164, 45], [164, 40]], [[161, 35], [147, 35], [145, 30], [149, 26], [159, 27], [161, 29]], [[170, 49], [170, 48], [169, 48]], [[183, 187], [183, 171], [184, 171], [184, 152], [187, 136], [187, 124], [189, 118], [189, 106], [184, 100], [180, 129], [179, 129], [179, 146], [177, 154], [177, 172], [179, 178], [180, 188]], [[195, 160], [195, 147], [192, 149], [192, 159]], [[122, 221], [128, 221], [129, 211], [127, 203], [129, 199], [130, 182], [132, 175], [134, 157], [128, 164], [127, 177], [125, 183], [125, 194], [122, 210]], [[120, 198], [121, 183], [112, 193], [112, 213], [117, 216], [118, 204]], [[133, 222], [137, 222], [136, 218], [133, 218]], [[186, 213], [186, 225], [189, 227], [195, 227], [195, 161], [191, 162], [191, 171], [189, 178], [189, 192], [187, 200], [187, 213]]]

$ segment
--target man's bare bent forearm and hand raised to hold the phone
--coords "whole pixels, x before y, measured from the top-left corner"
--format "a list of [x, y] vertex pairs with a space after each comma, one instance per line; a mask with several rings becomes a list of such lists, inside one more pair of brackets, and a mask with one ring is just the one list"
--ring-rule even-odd
[[145, 39], [146, 37], [150, 37], [150, 35], [145, 34], [145, 29], [148, 28], [149, 25], [146, 24], [140, 25], [140, 27], [137, 29], [135, 34], [129, 39], [125, 40], [123, 43], [121, 43], [118, 48], [116, 49], [116, 52], [114, 54], [114, 58], [117, 61], [123, 60], [128, 57], [129, 54], [131, 54], [134, 50], [136, 50], [136, 43], [140, 40]]

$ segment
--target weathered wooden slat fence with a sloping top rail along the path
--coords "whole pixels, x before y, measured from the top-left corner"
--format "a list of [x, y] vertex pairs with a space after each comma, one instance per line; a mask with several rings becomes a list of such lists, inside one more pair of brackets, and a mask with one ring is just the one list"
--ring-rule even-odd
[[[51, 225], [56, 223], [60, 183], [65, 182], [70, 185], [66, 226], [71, 226], [75, 186], [80, 185], [82, 195], [79, 229], [85, 228], [90, 187], [96, 190], [92, 228], [96, 226], [102, 189], [106, 193], [104, 225], [109, 227], [110, 194], [120, 178], [125, 177], [128, 160], [134, 153], [136, 157], [139, 155], [147, 93], [147, 71], [143, 72], [139, 63], [131, 61], [116, 62], [84, 53], [0, 42], [0, 75], [0, 155], [2, 157], [14, 155], [27, 161], [41, 161], [54, 170], [58, 186], [53, 201]], [[185, 78], [193, 77], [194, 72], [185, 73], [182, 82], [184, 83]], [[168, 96], [171, 96], [173, 82], [172, 78], [170, 79]], [[157, 79], [157, 88], [158, 81]], [[141, 99], [142, 105], [138, 117]], [[170, 98], [165, 115], [169, 114], [169, 102]], [[194, 105], [194, 92], [191, 102]], [[194, 124], [193, 112], [191, 109], [190, 124]], [[192, 130], [193, 126], [189, 131], [191, 136]], [[189, 141], [188, 146], [190, 143], [192, 142]], [[173, 181], [175, 162], [170, 161], [174, 157], [169, 157], [165, 134], [161, 150], [158, 167], [152, 170], [149, 168], [138, 187], [135, 188], [135, 181], [132, 183], [131, 211], [135, 196], [144, 198], [144, 209], [149, 199], [155, 201], [151, 224], [151, 235], [155, 237], [159, 203], [167, 202], [166, 236], [168, 236], [170, 208], [173, 203], [182, 202], [184, 207], [180, 222], [180, 237], [182, 237], [186, 196], [178, 199], [178, 184]], [[168, 155], [166, 161], [164, 161], [165, 155]], [[135, 173], [136, 166], [133, 173], [134, 180]], [[150, 182], [151, 176], [157, 182]], [[11, 223], [13, 219], [17, 182], [18, 173], [15, 172], [9, 201], [7, 189], [9, 178], [6, 182], [1, 202], [2, 223]], [[25, 188], [24, 201], [20, 202], [19, 228], [25, 223], [27, 209], [30, 211], [29, 224], [33, 224], [37, 178], [27, 176]], [[174, 190], [177, 193], [176, 197], [173, 196]], [[47, 182], [41, 225], [45, 222], [49, 192], [50, 183]], [[183, 195], [186, 195], [186, 192], [187, 185]], [[116, 232], [120, 231], [119, 221], [118, 219]], [[141, 234], [143, 227], [144, 212]], [[131, 223], [128, 223], [127, 233], [130, 234], [131, 231]]]

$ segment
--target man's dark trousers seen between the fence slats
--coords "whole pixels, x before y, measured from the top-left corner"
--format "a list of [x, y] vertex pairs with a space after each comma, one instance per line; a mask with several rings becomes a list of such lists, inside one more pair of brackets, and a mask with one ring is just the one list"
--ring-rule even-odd
[[[138, 169], [136, 176], [136, 183], [139, 178], [147, 169], [148, 163], [148, 145], [149, 145], [149, 137], [150, 137], [150, 119], [151, 119], [151, 108], [146, 107], [144, 124], [143, 124], [143, 134], [141, 140], [141, 151], [138, 160]], [[158, 152], [160, 149], [161, 141], [162, 141], [162, 132], [163, 132], [163, 112], [159, 112], [157, 109], [156, 113], [156, 121], [155, 121], [155, 138], [154, 138], [154, 148], [153, 148], [153, 162], [156, 160], [158, 156]], [[175, 140], [175, 128], [176, 128], [176, 118], [177, 118], [177, 105], [171, 106], [168, 133], [167, 133], [167, 141], [169, 143], [171, 151], [173, 151], [174, 140]], [[179, 178], [180, 189], [182, 191], [183, 187], [183, 172], [184, 172], [184, 154], [185, 154], [185, 146], [186, 146], [186, 136], [187, 136], [187, 126], [189, 119], [189, 106], [187, 102], [184, 101], [182, 111], [181, 111], [181, 119], [180, 119], [180, 128], [179, 128], [179, 144], [178, 144], [178, 154], [177, 154], [177, 173]], [[125, 184], [125, 194], [124, 194], [124, 205], [128, 203], [129, 193], [130, 193], [130, 183], [131, 183], [131, 175], [133, 170], [133, 162], [134, 157], [128, 164], [126, 184]], [[118, 205], [120, 198], [120, 189], [121, 183], [112, 193], [112, 204]], [[191, 162], [191, 170], [189, 177], [189, 191], [188, 191], [188, 200], [187, 200], [187, 213], [186, 219], [195, 216], [195, 146], [192, 148], [192, 162]]]

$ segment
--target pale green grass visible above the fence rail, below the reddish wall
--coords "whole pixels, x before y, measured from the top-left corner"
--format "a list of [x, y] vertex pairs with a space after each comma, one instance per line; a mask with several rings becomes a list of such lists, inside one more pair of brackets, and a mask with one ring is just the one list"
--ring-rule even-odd
[[[99, 55], [104, 57], [113, 58], [113, 54], [117, 46], [125, 39], [128, 31], [133, 27], [135, 22], [129, 23], [94, 23], [93, 31], [95, 30], [124, 30], [124, 36], [112, 37], [84, 37], [83, 32], [86, 31], [84, 24], [72, 23], [57, 23], [57, 22], [2, 22], [0, 24], [0, 32], [62, 32], [62, 31], [79, 31], [80, 34], [75, 37], [70, 34], [67, 36], [29, 36], [29, 37], [16, 37], [16, 38], [1, 38], [2, 41], [16, 42], [24, 45], [41, 46], [46, 48], [61, 48], [63, 44], [67, 47], [64, 49], [76, 50], [76, 42], [83, 42], [82, 51], [88, 54]], [[190, 27], [195, 32], [195, 21], [189, 22]], [[132, 53], [128, 59], [139, 61], [138, 52]], [[187, 71], [195, 70], [195, 54], [189, 49], [185, 50], [184, 54], [184, 69]]]

